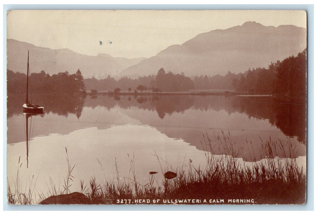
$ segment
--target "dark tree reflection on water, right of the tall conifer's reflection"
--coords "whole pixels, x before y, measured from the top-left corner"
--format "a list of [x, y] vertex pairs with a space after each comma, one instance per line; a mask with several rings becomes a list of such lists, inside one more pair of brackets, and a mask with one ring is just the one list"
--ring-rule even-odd
[[[100, 96], [94, 102], [85, 102], [87, 107], [104, 106], [108, 110], [119, 106], [123, 109], [138, 107], [156, 111], [159, 118], [173, 113], [184, 113], [185, 110], [215, 111], [225, 110], [228, 114], [247, 114], [249, 118], [267, 119], [273, 126], [298, 141], [306, 144], [306, 104], [289, 104], [275, 101], [271, 97], [239, 97], [239, 96], [190, 96], [190, 95], [154, 95], [154, 96], [121, 96], [120, 100], [113, 96]], [[117, 102], [120, 101], [120, 102]], [[261, 128], [258, 128], [261, 129]]]

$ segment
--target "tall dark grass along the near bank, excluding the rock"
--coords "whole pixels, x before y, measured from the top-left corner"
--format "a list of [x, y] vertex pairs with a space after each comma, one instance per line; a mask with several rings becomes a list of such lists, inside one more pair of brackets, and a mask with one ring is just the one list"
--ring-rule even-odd
[[[255, 157], [252, 142], [250, 156]], [[98, 184], [92, 177], [89, 186], [81, 183], [81, 192], [85, 193], [92, 204], [117, 204], [118, 199], [247, 199], [256, 200], [256, 204], [303, 204], [306, 201], [306, 172], [296, 162], [296, 149], [287, 141], [285, 143], [262, 141], [260, 161], [244, 162], [239, 158], [242, 148], [230, 140], [230, 132], [225, 134], [203, 134], [201, 145], [204, 149], [206, 163], [192, 166], [192, 160], [173, 169], [168, 161], [157, 155], [161, 173], [173, 171], [177, 176], [173, 179], [164, 178], [161, 182], [155, 175], [149, 175], [149, 181], [141, 185], [138, 180], [135, 157], [129, 156], [130, 171], [128, 177], [120, 177], [117, 161], [115, 160], [116, 178], [106, 180], [103, 166], [98, 160], [104, 173], [104, 182]], [[222, 150], [221, 155], [215, 155], [215, 149]], [[277, 154], [284, 158], [276, 157]], [[64, 180], [64, 188], [72, 181], [71, 172], [74, 166], [68, 162], [68, 175]], [[165, 166], [165, 168], [163, 168]], [[71, 168], [72, 167], [72, 168]], [[187, 167], [185, 169], [184, 167]], [[69, 181], [68, 181], [69, 180]], [[87, 188], [86, 188], [87, 187]], [[63, 192], [68, 193], [69, 189]], [[56, 193], [56, 192], [55, 192]], [[32, 197], [31, 197], [32, 198]], [[21, 204], [14, 192], [8, 187], [8, 201], [11, 204]]]

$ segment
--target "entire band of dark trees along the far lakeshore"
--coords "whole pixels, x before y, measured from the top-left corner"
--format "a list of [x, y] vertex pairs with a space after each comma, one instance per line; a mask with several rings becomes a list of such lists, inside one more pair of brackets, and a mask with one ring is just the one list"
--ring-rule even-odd
[[[161, 68], [157, 75], [132, 79], [122, 77], [116, 80], [108, 76], [98, 80], [94, 77], [84, 79], [81, 71], [69, 74], [60, 72], [50, 76], [45, 71], [32, 73], [31, 90], [49, 92], [78, 93], [87, 90], [98, 91], [147, 91], [180, 92], [188, 90], [233, 90], [243, 94], [275, 95], [288, 101], [306, 101], [306, 49], [296, 57], [290, 56], [283, 61], [270, 63], [267, 68], [252, 68], [243, 73], [226, 75], [186, 77], [184, 73], [174, 74]], [[7, 70], [7, 89], [25, 90], [26, 75]]]

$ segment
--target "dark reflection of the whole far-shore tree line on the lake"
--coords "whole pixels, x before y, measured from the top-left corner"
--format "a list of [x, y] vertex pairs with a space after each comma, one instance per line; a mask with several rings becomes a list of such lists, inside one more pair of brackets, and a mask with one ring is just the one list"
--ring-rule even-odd
[[[156, 111], [160, 119], [166, 114], [184, 113], [190, 108], [194, 110], [224, 110], [228, 114], [247, 114], [250, 118], [267, 119], [289, 137], [297, 137], [306, 144], [306, 104], [291, 104], [276, 101], [272, 97], [248, 97], [225, 95], [98, 95], [80, 94], [48, 94], [33, 93], [33, 102], [45, 107], [47, 113], [55, 113], [67, 117], [76, 114], [80, 119], [83, 107], [106, 107], [107, 110], [119, 106], [122, 109], [137, 107], [138, 109]], [[24, 93], [8, 92], [7, 117], [21, 113]], [[261, 129], [261, 128], [259, 128]]]

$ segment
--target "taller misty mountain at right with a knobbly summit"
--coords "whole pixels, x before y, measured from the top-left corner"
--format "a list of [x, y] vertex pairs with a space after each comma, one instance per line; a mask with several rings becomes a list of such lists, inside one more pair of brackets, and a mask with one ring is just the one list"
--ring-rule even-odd
[[182, 45], [172, 45], [118, 75], [128, 77], [157, 74], [160, 68], [186, 76], [226, 74], [267, 67], [270, 62], [297, 55], [306, 47], [306, 28], [278, 27], [245, 22], [225, 30], [198, 34]]

